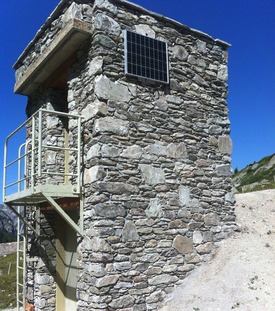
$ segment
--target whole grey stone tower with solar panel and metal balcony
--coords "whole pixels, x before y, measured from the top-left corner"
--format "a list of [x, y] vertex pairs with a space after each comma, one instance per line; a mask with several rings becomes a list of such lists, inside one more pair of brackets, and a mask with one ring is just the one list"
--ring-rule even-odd
[[234, 231], [228, 47], [128, 1], [63, 0], [24, 50], [15, 92], [47, 111], [37, 140], [65, 146], [35, 164], [54, 194], [5, 199], [35, 207], [35, 310], [158, 310]]

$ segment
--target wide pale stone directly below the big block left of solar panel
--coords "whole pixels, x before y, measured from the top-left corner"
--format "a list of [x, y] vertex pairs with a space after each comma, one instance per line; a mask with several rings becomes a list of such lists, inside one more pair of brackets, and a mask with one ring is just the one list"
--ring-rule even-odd
[[110, 132], [113, 134], [126, 136], [129, 132], [129, 122], [112, 117], [100, 118], [95, 121], [94, 132]]

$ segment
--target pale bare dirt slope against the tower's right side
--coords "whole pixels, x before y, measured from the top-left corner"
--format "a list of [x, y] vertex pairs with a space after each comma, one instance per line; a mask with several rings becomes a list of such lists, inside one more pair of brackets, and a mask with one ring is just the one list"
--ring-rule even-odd
[[275, 310], [275, 190], [236, 195], [240, 227], [160, 311]]

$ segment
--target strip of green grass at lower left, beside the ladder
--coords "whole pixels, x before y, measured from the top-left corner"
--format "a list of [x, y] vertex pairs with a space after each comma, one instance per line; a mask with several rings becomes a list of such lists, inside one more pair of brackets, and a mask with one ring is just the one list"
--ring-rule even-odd
[[16, 253], [0, 257], [0, 310], [16, 307]]

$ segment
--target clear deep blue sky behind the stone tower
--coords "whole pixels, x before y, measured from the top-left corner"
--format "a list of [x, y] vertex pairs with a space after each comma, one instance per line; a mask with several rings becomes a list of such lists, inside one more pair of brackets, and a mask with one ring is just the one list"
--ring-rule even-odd
[[[133, 0], [232, 44], [229, 109], [233, 168], [275, 153], [275, 1]], [[25, 120], [27, 98], [13, 94], [16, 59], [58, 0], [1, 1], [0, 165], [5, 137]], [[1, 170], [2, 171], [2, 170]], [[0, 174], [2, 188], [2, 174]]]

